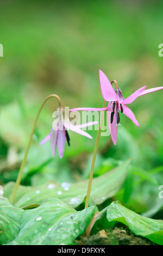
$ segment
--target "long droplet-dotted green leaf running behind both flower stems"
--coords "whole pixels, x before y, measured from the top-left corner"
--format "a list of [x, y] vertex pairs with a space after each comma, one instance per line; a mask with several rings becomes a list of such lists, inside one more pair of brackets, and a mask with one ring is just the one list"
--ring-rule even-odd
[[[93, 178], [91, 198], [96, 205], [102, 204], [107, 198], [114, 196], [122, 187], [128, 166], [131, 160], [123, 162], [120, 166], [110, 170], [97, 178]], [[40, 204], [49, 197], [58, 197], [63, 202], [76, 208], [81, 204], [86, 196], [88, 180], [57, 186], [45, 184], [38, 187], [19, 186], [14, 204], [18, 207], [26, 205]], [[10, 198], [14, 189], [14, 182], [4, 186], [4, 196]]]

